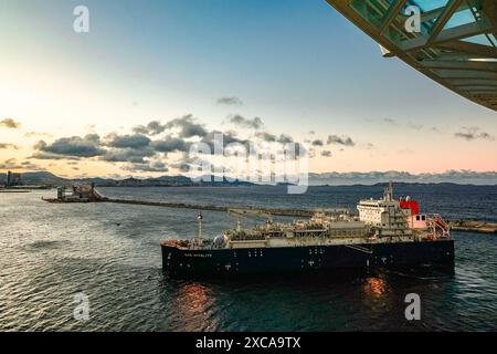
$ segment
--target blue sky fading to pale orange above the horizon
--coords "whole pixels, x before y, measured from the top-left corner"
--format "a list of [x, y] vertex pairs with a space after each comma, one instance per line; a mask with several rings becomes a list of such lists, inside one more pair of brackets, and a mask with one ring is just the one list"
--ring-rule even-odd
[[0, 171], [173, 175], [215, 132], [300, 143], [315, 174], [497, 170], [494, 111], [324, 0], [2, 0], [0, 43]]

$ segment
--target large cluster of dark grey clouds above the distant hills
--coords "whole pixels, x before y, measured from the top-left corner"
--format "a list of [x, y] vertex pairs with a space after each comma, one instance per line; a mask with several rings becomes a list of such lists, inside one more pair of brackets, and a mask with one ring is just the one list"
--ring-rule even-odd
[[[257, 117], [245, 119], [242, 116], [231, 116], [231, 121], [252, 128], [263, 126], [262, 121]], [[188, 157], [190, 148], [194, 144], [207, 144], [210, 147], [210, 152], [203, 149], [200, 149], [200, 152], [202, 154], [208, 153], [208, 155], [213, 154], [214, 143], [220, 137], [222, 137], [225, 150], [229, 145], [232, 147], [235, 144], [243, 146], [248, 152], [251, 143], [254, 143], [257, 150], [260, 148], [265, 149], [261, 143], [279, 143], [282, 145], [295, 143], [297, 153], [292, 156], [299, 158], [306, 154], [304, 146], [294, 142], [289, 135], [281, 134], [276, 136], [257, 131], [252, 135], [253, 140], [248, 140], [245, 137], [239, 137], [237, 133], [233, 131], [210, 131], [203, 124], [198, 123], [197, 118], [190, 114], [166, 123], [151, 121], [147, 125], [135, 126], [133, 132], [123, 135], [112, 133], [103, 138], [97, 134], [87, 134], [85, 136], [61, 137], [52, 143], [39, 140], [34, 145], [34, 152], [30, 158], [52, 160], [82, 160], [89, 158], [107, 163], [123, 163], [119, 167], [127, 170], [167, 171], [170, 168], [178, 167], [181, 169], [184, 165], [191, 165], [186, 159], [186, 156]], [[300, 150], [298, 150], [299, 147], [302, 147]], [[272, 145], [271, 148], [277, 147]], [[226, 150], [226, 153], [234, 152], [235, 149]], [[183, 158], [175, 165], [170, 159], [173, 159], [176, 156], [168, 157], [169, 153], [183, 153]], [[161, 162], [165, 158], [167, 160]]]

